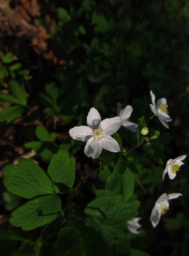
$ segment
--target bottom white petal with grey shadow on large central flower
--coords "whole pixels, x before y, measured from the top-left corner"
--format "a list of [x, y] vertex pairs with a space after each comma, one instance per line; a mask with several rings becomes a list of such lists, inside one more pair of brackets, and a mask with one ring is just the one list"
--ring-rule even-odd
[[93, 137], [90, 138], [87, 141], [84, 152], [85, 152], [86, 156], [89, 156], [89, 157], [92, 156], [92, 158], [94, 158], [94, 159], [98, 158], [102, 152], [101, 140], [96, 141], [95, 139], [93, 139]]

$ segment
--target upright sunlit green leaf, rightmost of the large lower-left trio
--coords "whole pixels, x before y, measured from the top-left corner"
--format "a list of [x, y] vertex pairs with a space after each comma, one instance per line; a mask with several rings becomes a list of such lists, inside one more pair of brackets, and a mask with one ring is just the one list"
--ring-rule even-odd
[[53, 180], [55, 191], [68, 191], [75, 180], [75, 158], [69, 157], [66, 150], [60, 149], [51, 158], [47, 173]]

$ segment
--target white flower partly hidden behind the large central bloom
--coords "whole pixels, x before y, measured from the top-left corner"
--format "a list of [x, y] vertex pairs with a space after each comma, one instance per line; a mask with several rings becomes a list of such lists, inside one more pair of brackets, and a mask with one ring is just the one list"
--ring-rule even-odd
[[121, 117], [123, 120], [122, 126], [129, 129], [130, 131], [133, 131], [135, 133], [136, 131], [136, 123], [132, 123], [129, 121], [129, 117], [131, 116], [131, 113], [133, 112], [133, 107], [130, 105], [127, 105], [124, 107], [124, 109], [121, 109], [121, 103], [117, 103], [117, 113], [118, 116]]

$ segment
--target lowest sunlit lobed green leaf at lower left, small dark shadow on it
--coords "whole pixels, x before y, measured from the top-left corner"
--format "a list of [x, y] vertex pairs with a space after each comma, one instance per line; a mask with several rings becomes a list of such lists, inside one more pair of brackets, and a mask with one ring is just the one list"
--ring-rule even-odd
[[35, 198], [12, 212], [10, 223], [31, 230], [50, 223], [58, 215], [61, 200], [57, 195]]

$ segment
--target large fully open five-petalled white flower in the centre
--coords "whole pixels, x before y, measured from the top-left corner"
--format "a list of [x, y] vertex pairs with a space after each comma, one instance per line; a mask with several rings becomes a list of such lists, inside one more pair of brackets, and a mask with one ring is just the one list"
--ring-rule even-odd
[[87, 115], [87, 126], [76, 126], [69, 133], [73, 139], [87, 141], [84, 152], [87, 156], [98, 158], [102, 148], [119, 152], [118, 142], [110, 135], [115, 133], [122, 125], [120, 117], [107, 118], [101, 121], [99, 112], [92, 107]]

